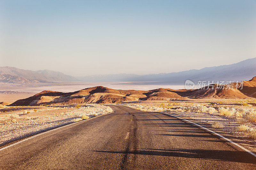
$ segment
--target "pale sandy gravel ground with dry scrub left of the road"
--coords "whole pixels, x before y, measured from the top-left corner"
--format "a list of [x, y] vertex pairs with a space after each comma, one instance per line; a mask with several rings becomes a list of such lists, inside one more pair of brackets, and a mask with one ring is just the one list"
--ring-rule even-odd
[[69, 123], [87, 115], [89, 118], [112, 112], [98, 104], [6, 107], [0, 109], [0, 147]]

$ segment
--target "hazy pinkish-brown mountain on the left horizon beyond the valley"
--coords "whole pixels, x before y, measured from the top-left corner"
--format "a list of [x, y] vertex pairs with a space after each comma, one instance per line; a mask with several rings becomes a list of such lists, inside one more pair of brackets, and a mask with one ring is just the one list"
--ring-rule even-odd
[[14, 84], [49, 83], [61, 81], [77, 81], [72, 76], [51, 70], [23, 70], [15, 67], [0, 67], [0, 82]]

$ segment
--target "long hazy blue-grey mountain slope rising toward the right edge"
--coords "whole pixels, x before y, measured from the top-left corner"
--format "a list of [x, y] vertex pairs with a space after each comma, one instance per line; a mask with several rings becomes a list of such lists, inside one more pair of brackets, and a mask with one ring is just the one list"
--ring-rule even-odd
[[[129, 75], [129, 76], [128, 76]], [[200, 70], [161, 74], [108, 74], [83, 77], [86, 81], [143, 81], [156, 83], [184, 84], [186, 80], [197, 81], [242, 81], [249, 80], [256, 75], [256, 58], [247, 59], [239, 63], [205, 67]]]

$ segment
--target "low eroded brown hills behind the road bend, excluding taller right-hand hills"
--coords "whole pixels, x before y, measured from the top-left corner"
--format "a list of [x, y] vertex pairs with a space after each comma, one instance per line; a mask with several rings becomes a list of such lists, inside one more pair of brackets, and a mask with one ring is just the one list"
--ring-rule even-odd
[[136, 91], [97, 86], [68, 93], [43, 91], [27, 99], [17, 100], [10, 106], [36, 106], [53, 103], [117, 103], [127, 100], [172, 100], [173, 98], [183, 97], [166, 89]]

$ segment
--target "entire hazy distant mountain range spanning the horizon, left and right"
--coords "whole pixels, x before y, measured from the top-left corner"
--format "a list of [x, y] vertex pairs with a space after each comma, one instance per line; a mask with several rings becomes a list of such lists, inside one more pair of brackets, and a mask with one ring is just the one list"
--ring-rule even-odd
[[[214, 60], [214, 59], [212, 59]], [[175, 64], [175, 63], [173, 63]], [[171, 65], [170, 65], [171, 66]], [[160, 74], [104, 74], [83, 77], [73, 77], [52, 70], [23, 70], [15, 67], [0, 67], [0, 83], [33, 84], [72, 81], [127, 81], [150, 84], [184, 84], [186, 80], [193, 82], [210, 81], [243, 81], [256, 75], [256, 58], [247, 59], [239, 63], [205, 67], [200, 70], [187, 70]]]

